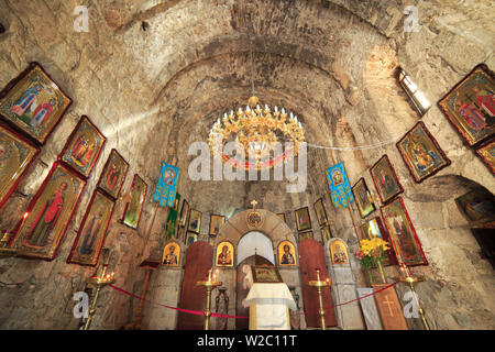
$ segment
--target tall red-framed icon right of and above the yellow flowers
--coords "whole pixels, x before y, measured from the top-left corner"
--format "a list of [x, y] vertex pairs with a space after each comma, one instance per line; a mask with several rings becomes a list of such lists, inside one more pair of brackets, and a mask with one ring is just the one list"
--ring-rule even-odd
[[406, 265], [428, 265], [402, 197], [381, 208], [397, 260]]

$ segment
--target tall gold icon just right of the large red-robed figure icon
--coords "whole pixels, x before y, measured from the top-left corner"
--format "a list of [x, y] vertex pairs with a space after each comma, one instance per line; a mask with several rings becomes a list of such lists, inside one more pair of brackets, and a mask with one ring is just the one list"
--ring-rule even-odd
[[103, 246], [114, 201], [96, 190], [89, 201], [67, 263], [95, 266]]

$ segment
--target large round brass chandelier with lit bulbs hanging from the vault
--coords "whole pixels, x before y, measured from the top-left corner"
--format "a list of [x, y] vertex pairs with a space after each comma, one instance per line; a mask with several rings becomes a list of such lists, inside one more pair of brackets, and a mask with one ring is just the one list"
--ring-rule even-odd
[[[239, 108], [234, 113], [224, 113], [218, 119], [210, 130], [208, 143], [213, 155], [220, 156], [226, 164], [232, 164], [234, 168], [264, 169], [286, 163], [297, 156], [298, 146], [305, 142], [302, 125], [297, 116], [287, 112], [284, 108], [272, 109], [265, 105], [262, 108], [260, 99], [254, 95], [253, 81], [253, 53], [250, 45], [251, 58], [251, 88], [252, 97], [248, 100], [245, 109]], [[237, 151], [243, 151], [243, 155], [232, 157], [223, 153], [224, 144], [235, 142]], [[280, 153], [275, 143], [287, 143], [288, 147]], [[254, 156], [254, 157], [253, 157]]]

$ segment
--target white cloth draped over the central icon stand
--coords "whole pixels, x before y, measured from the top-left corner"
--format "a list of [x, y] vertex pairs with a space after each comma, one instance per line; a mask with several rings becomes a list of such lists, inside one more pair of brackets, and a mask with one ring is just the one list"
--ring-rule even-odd
[[296, 302], [286, 284], [254, 284], [243, 304], [256, 306], [256, 330], [286, 330], [288, 310], [296, 310]]

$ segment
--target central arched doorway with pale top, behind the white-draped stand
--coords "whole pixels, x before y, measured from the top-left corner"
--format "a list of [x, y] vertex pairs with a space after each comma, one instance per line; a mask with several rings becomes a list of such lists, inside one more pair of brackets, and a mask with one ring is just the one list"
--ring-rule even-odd
[[[249, 308], [244, 308], [242, 302], [248, 296], [250, 282], [251, 265], [275, 265], [272, 240], [258, 232], [248, 232], [238, 244], [238, 262], [237, 262], [237, 290], [235, 290], [235, 315], [239, 317], [248, 317]], [[237, 330], [248, 330], [249, 319], [238, 319], [235, 321]]]

